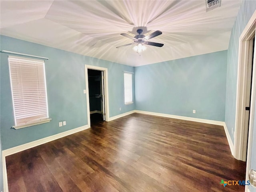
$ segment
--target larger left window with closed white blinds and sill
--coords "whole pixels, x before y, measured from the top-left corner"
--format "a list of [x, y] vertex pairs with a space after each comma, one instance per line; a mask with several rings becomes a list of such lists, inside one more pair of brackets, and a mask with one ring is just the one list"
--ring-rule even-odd
[[15, 126], [49, 122], [44, 61], [9, 56]]

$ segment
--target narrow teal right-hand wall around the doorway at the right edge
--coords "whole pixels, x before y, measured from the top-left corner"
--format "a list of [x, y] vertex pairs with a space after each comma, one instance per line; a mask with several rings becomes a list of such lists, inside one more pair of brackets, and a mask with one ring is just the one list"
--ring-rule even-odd
[[[232, 127], [235, 128], [235, 113], [236, 113], [236, 83], [237, 83], [237, 67], [238, 67], [238, 44], [239, 37], [242, 34], [246, 24], [250, 20], [252, 14], [256, 10], [255, 0], [242, 1], [240, 10], [236, 17], [236, 21], [232, 28], [230, 42], [228, 47], [228, 62], [227, 62], [227, 84], [226, 84], [226, 113], [225, 122], [228, 132], [234, 143], [232, 135]], [[256, 110], [256, 106], [254, 107]], [[256, 170], [256, 119], [254, 118], [254, 130], [252, 139], [252, 157], [251, 168]], [[250, 192], [256, 192], [256, 188], [249, 187]]]

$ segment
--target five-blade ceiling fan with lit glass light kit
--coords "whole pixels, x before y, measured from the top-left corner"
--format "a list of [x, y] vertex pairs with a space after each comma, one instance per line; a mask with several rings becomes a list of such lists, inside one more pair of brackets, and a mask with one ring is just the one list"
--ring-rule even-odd
[[134, 42], [126, 44], [126, 45], [122, 45], [122, 46], [118, 46], [116, 48], [121, 48], [121, 47], [125, 47], [128, 45], [132, 45], [132, 44], [136, 44], [136, 46], [134, 46], [133, 50], [136, 51], [138, 54], [140, 54], [140, 52], [146, 50], [146, 46], [145, 45], [152, 45], [152, 46], [156, 46], [156, 47], [162, 47], [164, 46], [164, 44], [162, 43], [156, 43], [156, 42], [150, 42], [148, 40], [150, 40], [151, 38], [154, 38], [160, 34], [162, 34], [161, 31], [155, 31], [147, 36], [142, 35], [143, 30], [142, 29], [138, 29], [137, 33], [138, 35], [132, 37], [126, 33], [121, 33], [122, 36], [125, 36], [127, 38], [132, 39]]

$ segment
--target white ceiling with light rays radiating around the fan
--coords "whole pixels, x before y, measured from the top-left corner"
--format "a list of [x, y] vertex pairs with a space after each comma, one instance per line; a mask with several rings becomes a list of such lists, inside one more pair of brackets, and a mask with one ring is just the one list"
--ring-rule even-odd
[[[205, 0], [1, 0], [0, 33], [140, 66], [228, 49], [240, 3], [222, 0], [219, 8], [206, 12]], [[145, 35], [162, 31], [150, 41], [164, 46], [148, 45], [141, 55], [132, 50], [134, 45], [117, 49], [133, 42], [120, 33], [135, 36], [139, 26], [147, 28]]]

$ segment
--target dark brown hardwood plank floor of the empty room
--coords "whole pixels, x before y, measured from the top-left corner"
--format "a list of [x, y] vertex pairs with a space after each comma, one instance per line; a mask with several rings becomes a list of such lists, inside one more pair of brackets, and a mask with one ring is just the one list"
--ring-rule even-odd
[[10, 192], [233, 192], [222, 126], [131, 114], [6, 157]]

